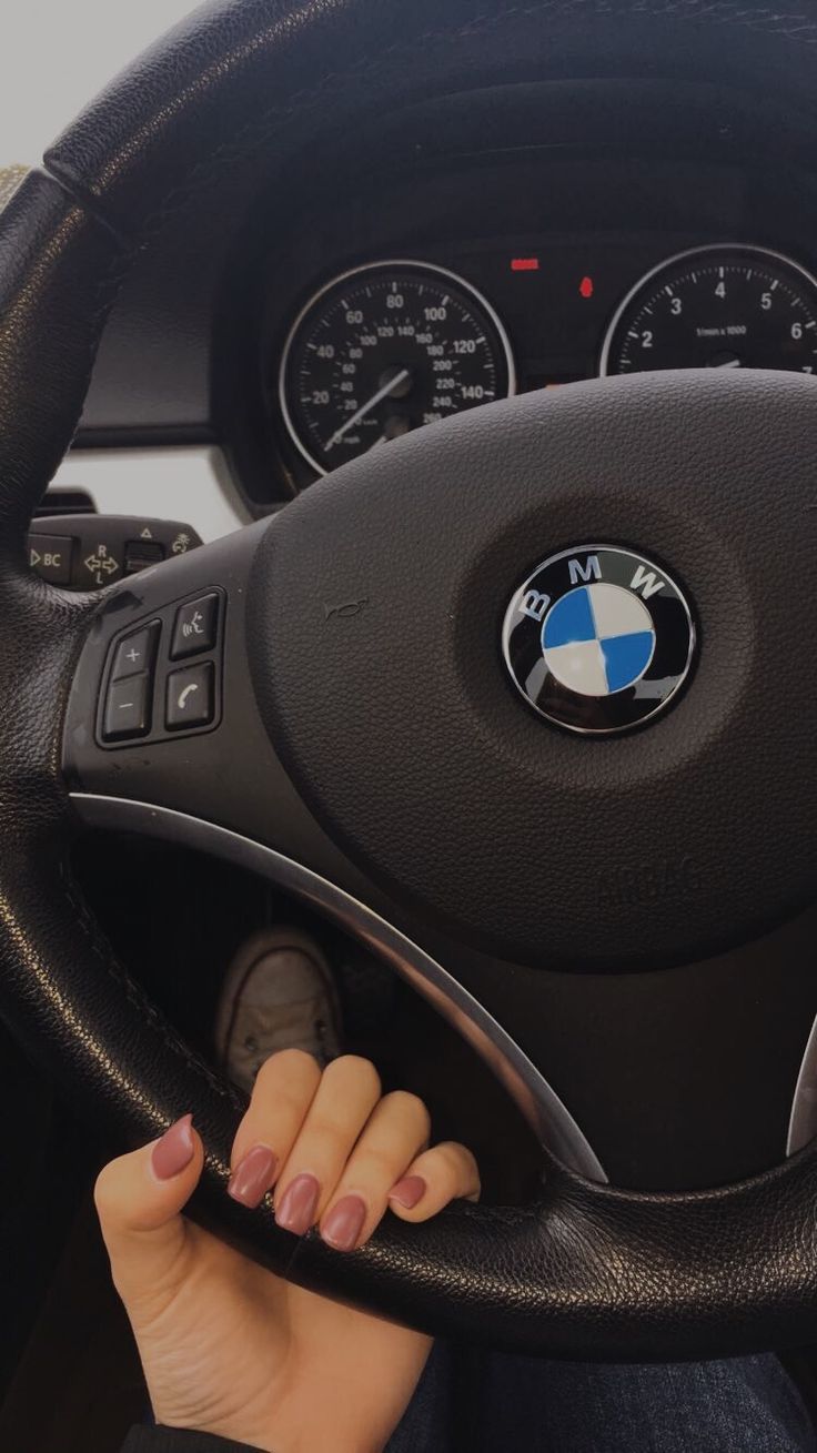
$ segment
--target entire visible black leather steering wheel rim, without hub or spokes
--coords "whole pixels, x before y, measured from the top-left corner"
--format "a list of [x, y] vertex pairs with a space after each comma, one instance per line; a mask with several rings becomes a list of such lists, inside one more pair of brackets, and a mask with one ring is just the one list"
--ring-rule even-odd
[[0, 215], [1, 1013], [124, 1142], [195, 1110], [204, 1222], [302, 1284], [419, 1327], [608, 1359], [811, 1341], [817, 1157], [693, 1196], [606, 1190], [552, 1165], [535, 1207], [454, 1206], [427, 1226], [391, 1223], [352, 1257], [228, 1200], [238, 1098], [128, 979], [65, 876], [60, 729], [93, 603], [25, 574], [25, 522], [70, 442], [125, 238], [137, 246], [177, 189], [211, 185], [231, 148], [302, 145], [387, 96], [488, 77], [520, 54], [532, 68], [580, 70], [596, 51], [667, 73], [731, 67], [807, 108], [816, 41], [813, 4], [209, 6], [125, 73], [55, 145], [52, 179], [26, 177]]

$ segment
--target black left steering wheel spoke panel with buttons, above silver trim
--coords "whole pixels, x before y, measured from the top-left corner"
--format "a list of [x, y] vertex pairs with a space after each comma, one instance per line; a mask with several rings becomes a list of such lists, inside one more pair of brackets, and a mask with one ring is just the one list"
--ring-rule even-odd
[[74, 676], [64, 774], [73, 792], [173, 808], [308, 863], [323, 834], [263, 728], [247, 655], [249, 580], [269, 527], [106, 591]]

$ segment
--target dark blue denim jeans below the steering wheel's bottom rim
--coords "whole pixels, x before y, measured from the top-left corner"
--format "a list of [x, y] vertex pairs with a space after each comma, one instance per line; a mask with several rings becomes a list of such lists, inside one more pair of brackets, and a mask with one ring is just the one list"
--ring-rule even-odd
[[613, 1366], [490, 1353], [459, 1396], [456, 1382], [438, 1343], [387, 1453], [817, 1453], [772, 1354]]

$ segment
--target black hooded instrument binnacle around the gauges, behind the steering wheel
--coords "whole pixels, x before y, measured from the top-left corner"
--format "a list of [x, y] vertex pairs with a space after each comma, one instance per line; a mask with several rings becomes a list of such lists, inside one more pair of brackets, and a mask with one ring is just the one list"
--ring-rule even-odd
[[545, 147], [343, 195], [266, 279], [263, 462], [297, 491], [513, 392], [647, 368], [811, 373], [814, 201], [811, 174], [762, 158]]

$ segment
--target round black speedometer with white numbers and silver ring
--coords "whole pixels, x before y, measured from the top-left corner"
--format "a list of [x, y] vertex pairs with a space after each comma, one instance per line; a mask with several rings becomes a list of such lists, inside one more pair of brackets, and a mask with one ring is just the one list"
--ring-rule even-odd
[[378, 263], [329, 283], [297, 318], [281, 365], [286, 427], [320, 474], [513, 389], [490, 304], [426, 263]]

